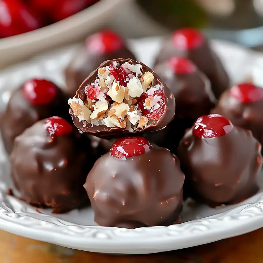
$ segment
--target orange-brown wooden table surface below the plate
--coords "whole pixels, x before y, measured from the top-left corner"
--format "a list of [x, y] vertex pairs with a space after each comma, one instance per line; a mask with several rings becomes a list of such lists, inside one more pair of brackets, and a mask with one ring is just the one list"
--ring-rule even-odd
[[214, 243], [150, 255], [68, 249], [0, 231], [1, 263], [262, 263], [263, 228]]

